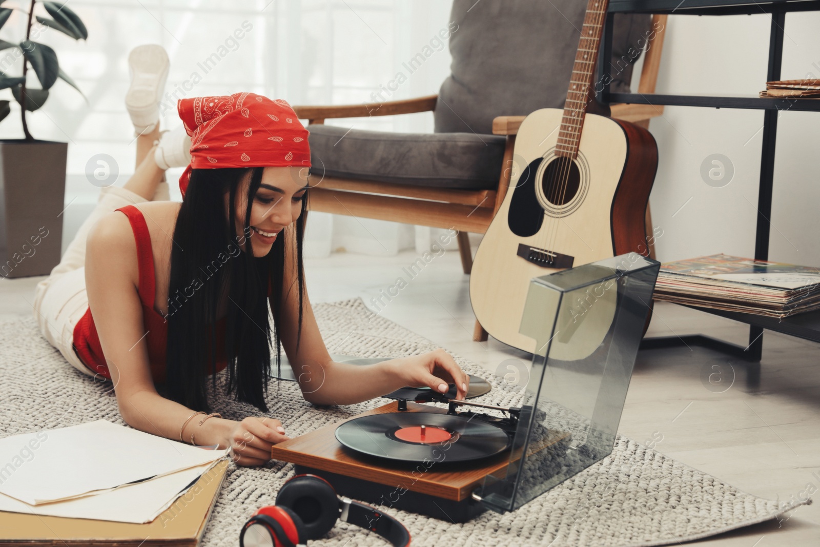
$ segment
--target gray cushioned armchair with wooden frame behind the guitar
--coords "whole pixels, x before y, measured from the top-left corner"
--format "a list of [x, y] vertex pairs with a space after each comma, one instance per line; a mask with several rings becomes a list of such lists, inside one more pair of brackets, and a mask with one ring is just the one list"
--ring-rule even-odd
[[[311, 190], [310, 208], [458, 230], [462, 267], [469, 273], [467, 232], [483, 234], [503, 201], [518, 125], [539, 108], [563, 108], [584, 14], [585, 2], [577, 0], [454, 0], [452, 74], [438, 95], [294, 107], [309, 122], [312, 172], [324, 175]], [[649, 36], [652, 17], [616, 16], [613, 91], [629, 91], [635, 51]], [[640, 91], [654, 91], [661, 36], [654, 33]], [[644, 123], [662, 112], [651, 105], [611, 110], [613, 117]], [[428, 111], [435, 119], [432, 134], [324, 125], [328, 118]], [[476, 339], [485, 340], [480, 326]]]

